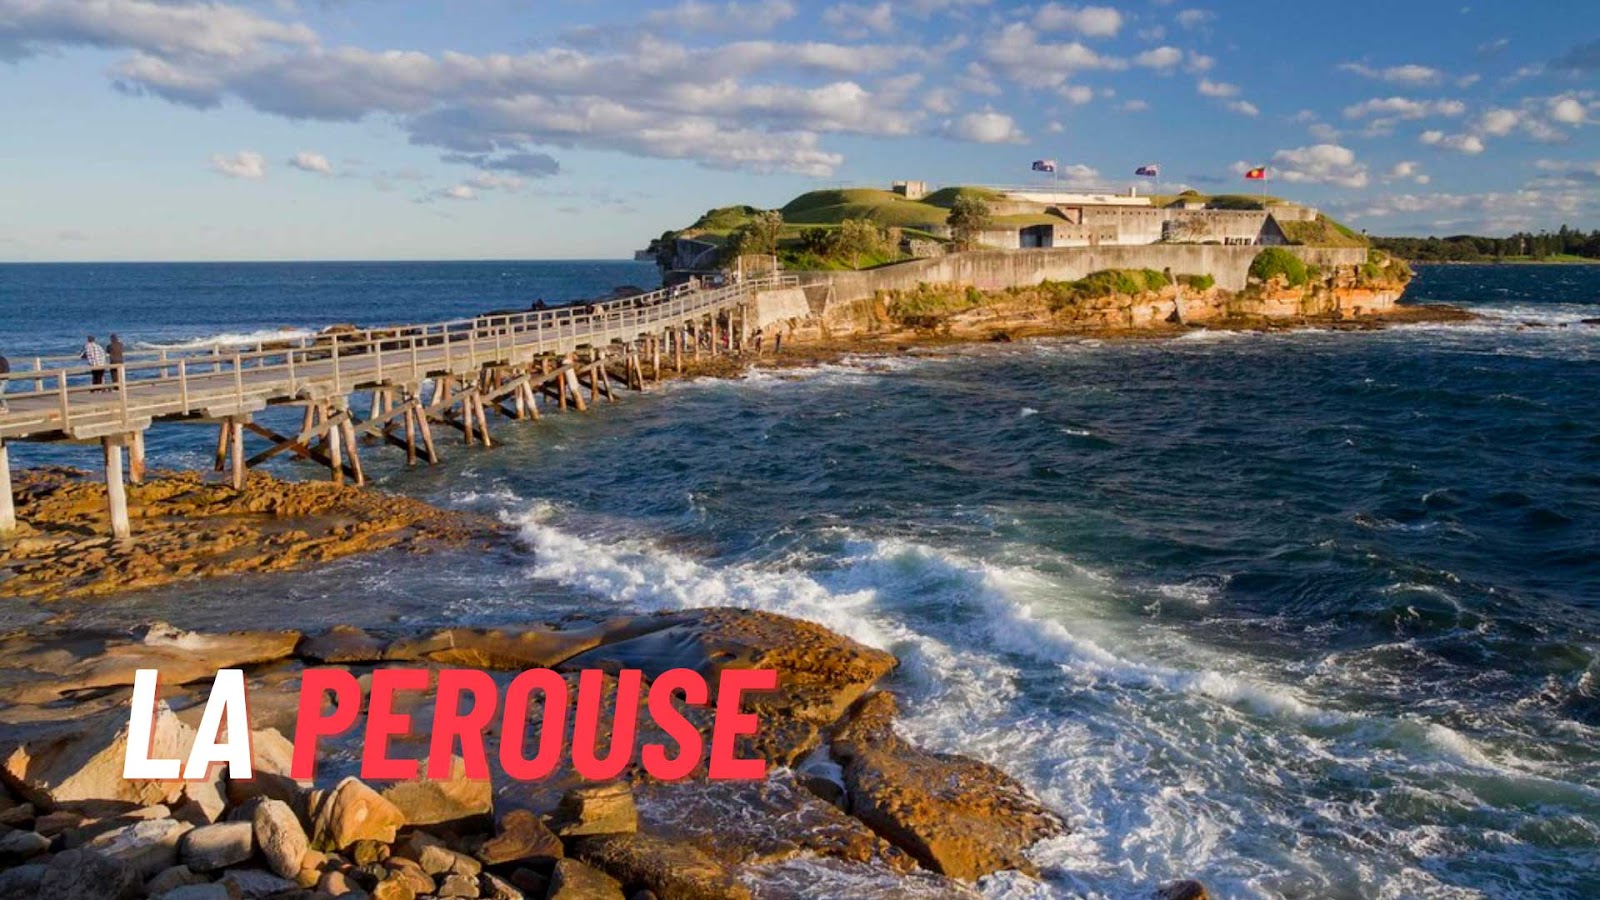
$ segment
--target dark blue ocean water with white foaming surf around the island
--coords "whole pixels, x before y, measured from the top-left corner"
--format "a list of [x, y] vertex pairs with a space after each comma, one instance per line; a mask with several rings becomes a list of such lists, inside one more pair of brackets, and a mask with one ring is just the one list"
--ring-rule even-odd
[[[381, 287], [328, 266], [315, 290], [270, 266], [186, 271], [213, 287], [184, 312], [152, 267], [128, 314], [115, 277], [35, 267], [22, 291], [0, 267], [5, 346], [94, 320], [69, 335], [37, 296], [194, 340], [525, 303], [507, 271], [550, 296], [646, 279], [453, 266], [384, 267]], [[1408, 301], [1483, 319], [861, 357], [504, 423], [501, 447], [445, 445], [434, 469], [374, 448], [386, 488], [499, 516], [517, 541], [80, 620], [766, 609], [893, 650], [907, 737], [1067, 815], [1074, 833], [1037, 850], [1043, 881], [994, 878], [990, 897], [1142, 897], [1171, 878], [1218, 897], [1594, 897], [1600, 327], [1581, 320], [1600, 315], [1600, 267], [1424, 267]], [[190, 464], [208, 440], [173, 426], [152, 448]]]

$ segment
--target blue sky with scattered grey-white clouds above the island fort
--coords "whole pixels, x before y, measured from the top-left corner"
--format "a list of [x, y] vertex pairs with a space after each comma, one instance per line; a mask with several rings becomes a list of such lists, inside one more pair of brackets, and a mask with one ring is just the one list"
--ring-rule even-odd
[[0, 261], [621, 258], [1037, 159], [1600, 227], [1600, 3], [0, 0]]

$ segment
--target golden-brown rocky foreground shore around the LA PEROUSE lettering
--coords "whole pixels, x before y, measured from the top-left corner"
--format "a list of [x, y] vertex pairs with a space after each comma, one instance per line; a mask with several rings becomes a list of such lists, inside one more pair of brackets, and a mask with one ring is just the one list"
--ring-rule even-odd
[[[491, 767], [474, 781], [458, 759], [448, 781], [368, 785], [349, 775], [358, 724], [325, 745], [317, 783], [293, 780], [301, 673], [338, 666], [365, 692], [374, 669], [397, 665], [472, 666], [502, 685], [552, 668], [571, 687], [581, 669], [653, 679], [690, 668], [715, 684], [726, 668], [773, 668], [779, 689], [747, 698], [762, 729], [739, 745], [770, 773], [715, 781], [702, 757], [688, 778], [659, 781], [635, 757], [610, 783], [581, 783], [570, 767], [544, 781]], [[1064, 834], [1062, 818], [992, 765], [898, 737], [894, 666], [821, 626], [730, 609], [382, 634], [11, 634], [0, 641], [0, 898], [915, 898], [976, 897], [987, 874], [1034, 873], [1029, 847]], [[157, 753], [192, 740], [216, 669], [243, 668], [254, 778], [123, 780], [138, 668], [162, 671]], [[432, 703], [413, 695], [402, 711], [426, 722]], [[710, 716], [686, 714], [709, 737]], [[648, 719], [640, 730], [638, 743], [662, 740]], [[499, 740], [494, 721], [490, 759]], [[390, 753], [427, 748], [411, 735]], [[1152, 890], [1203, 897], [1192, 882]]]

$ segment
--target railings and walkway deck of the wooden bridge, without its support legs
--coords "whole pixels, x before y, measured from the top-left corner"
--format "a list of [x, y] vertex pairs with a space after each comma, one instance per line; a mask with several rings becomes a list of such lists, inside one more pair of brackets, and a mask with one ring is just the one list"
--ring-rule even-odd
[[30, 431], [126, 426], [162, 415], [242, 408], [246, 400], [294, 397], [309, 388], [344, 394], [366, 384], [418, 383], [437, 373], [570, 352], [584, 344], [632, 341], [739, 303], [752, 291], [797, 283], [794, 275], [773, 275], [707, 290], [680, 285], [584, 306], [338, 331], [232, 352], [144, 351], [99, 368], [110, 378], [106, 384], [93, 384], [96, 368], [70, 357], [77, 365], [0, 376], [0, 389], [8, 389], [5, 399], [11, 404], [10, 413], [0, 413], [0, 432], [10, 431], [8, 420]]

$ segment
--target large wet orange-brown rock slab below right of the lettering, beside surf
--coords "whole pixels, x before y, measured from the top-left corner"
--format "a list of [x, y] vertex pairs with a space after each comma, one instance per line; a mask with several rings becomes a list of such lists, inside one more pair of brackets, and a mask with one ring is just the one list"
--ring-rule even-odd
[[834, 737], [851, 814], [936, 873], [1032, 873], [1024, 850], [1064, 833], [1061, 818], [994, 765], [902, 741], [894, 713], [893, 695], [875, 693]]

